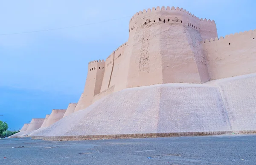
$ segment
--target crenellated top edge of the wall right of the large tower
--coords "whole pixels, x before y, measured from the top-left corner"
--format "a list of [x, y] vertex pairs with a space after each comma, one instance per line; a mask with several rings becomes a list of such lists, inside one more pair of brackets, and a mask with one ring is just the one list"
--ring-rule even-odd
[[[234, 34], [230, 34], [230, 35], [226, 35], [225, 36], [225, 38], [224, 37], [220, 37], [220, 38], [218, 38], [218, 37], [216, 37], [216, 38], [211, 38], [210, 40], [208, 40], [208, 39], [206, 39], [205, 41], [204, 41], [204, 43], [208, 43], [208, 42], [213, 42], [213, 41], [219, 41], [219, 40], [224, 40], [224, 39], [226, 39], [226, 38], [233, 38], [233, 37], [242, 37], [242, 36], [244, 36], [244, 35], [247, 35], [247, 33], [251, 33], [252, 35], [250, 35], [249, 37], [251, 38], [251, 39], [253, 39], [253, 40], [255, 40], [255, 38], [256, 38], [256, 29], [254, 29], [254, 30], [249, 30], [249, 31], [244, 31], [244, 32], [239, 32], [239, 33], [234, 33]], [[231, 43], [229, 43], [229, 45], [230, 45]]]

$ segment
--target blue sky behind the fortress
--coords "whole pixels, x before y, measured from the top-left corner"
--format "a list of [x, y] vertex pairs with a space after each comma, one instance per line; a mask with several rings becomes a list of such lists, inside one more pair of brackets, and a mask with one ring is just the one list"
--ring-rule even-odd
[[[131, 16], [156, 6], [213, 19], [218, 37], [256, 29], [254, 0], [0, 0], [0, 120], [17, 130], [77, 102], [88, 62], [108, 57], [127, 41]], [[90, 25], [2, 35], [81, 24]]]

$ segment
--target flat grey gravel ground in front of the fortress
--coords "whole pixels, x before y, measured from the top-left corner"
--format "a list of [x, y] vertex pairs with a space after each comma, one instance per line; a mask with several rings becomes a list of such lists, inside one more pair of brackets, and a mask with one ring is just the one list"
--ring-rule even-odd
[[[19, 146], [24, 147], [15, 148]], [[0, 165], [131, 164], [256, 165], [256, 135], [61, 142], [0, 139]]]

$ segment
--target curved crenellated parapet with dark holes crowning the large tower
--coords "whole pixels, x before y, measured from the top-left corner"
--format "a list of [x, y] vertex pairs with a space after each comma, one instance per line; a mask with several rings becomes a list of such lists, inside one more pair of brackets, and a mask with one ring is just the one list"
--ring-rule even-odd
[[217, 29], [214, 20], [199, 18], [183, 8], [172, 6], [165, 7], [157, 6], [152, 9], [143, 10], [134, 14], [129, 23], [129, 32], [134, 32], [134, 29], [141, 27], [146, 23], [151, 25], [155, 23], [183, 23], [191, 26], [193, 29], [200, 31], [202, 38], [217, 37]]

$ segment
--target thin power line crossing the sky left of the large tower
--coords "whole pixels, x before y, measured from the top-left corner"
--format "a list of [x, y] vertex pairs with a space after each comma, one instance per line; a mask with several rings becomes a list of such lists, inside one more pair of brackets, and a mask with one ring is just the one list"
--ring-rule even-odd
[[[126, 16], [126, 17], [132, 17], [132, 16]], [[25, 34], [25, 33], [46, 32], [46, 31], [59, 30], [59, 29], [68, 29], [68, 28], [74, 28], [74, 27], [79, 27], [79, 26], [87, 26], [87, 25], [93, 25], [93, 24], [97, 24], [97, 23], [119, 20], [119, 19], [126, 18], [126, 17], [120, 17], [120, 18], [116, 18], [116, 19], [112, 19], [112, 20], [104, 20], [101, 22], [86, 23], [86, 24], [75, 25], [75, 26], [66, 26], [66, 27], [60, 27], [60, 28], [54, 28], [54, 29], [35, 30], [35, 31], [29, 31], [29, 32], [6, 33], [6, 34], [0, 34], [0, 35], [17, 35], [17, 34]]]

